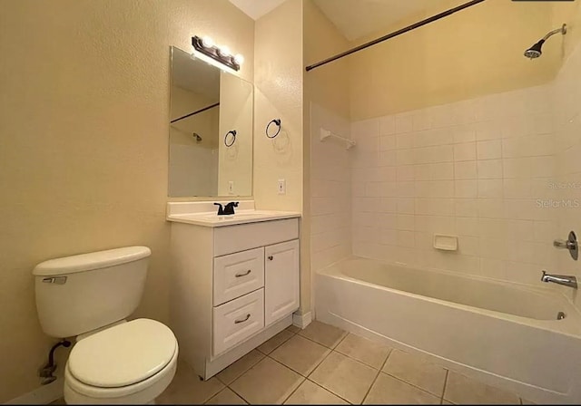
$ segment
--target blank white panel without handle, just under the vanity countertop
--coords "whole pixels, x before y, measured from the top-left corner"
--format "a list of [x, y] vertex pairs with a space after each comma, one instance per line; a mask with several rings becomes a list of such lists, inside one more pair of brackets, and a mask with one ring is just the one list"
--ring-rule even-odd
[[299, 218], [215, 227], [214, 256], [270, 246], [299, 238]]

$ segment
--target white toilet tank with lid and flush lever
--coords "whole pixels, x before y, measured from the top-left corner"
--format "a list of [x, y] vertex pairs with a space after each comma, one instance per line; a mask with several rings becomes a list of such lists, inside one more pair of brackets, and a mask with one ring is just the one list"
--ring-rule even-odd
[[36, 310], [44, 333], [87, 333], [132, 314], [151, 250], [123, 247], [44, 261], [34, 267]]

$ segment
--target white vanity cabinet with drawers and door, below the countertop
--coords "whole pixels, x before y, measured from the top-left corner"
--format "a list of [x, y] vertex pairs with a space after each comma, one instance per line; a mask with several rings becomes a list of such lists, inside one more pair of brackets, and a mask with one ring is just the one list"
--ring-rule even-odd
[[291, 325], [300, 304], [299, 218], [172, 223], [171, 325], [209, 379]]

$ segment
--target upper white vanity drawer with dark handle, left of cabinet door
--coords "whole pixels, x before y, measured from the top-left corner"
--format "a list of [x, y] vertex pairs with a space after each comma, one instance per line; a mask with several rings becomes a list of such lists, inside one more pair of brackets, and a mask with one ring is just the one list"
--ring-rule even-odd
[[213, 285], [214, 306], [264, 286], [264, 248], [214, 258]]

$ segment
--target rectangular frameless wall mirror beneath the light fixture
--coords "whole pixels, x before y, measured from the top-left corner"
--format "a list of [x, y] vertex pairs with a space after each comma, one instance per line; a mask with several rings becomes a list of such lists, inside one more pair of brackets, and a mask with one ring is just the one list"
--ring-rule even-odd
[[168, 196], [252, 194], [253, 86], [171, 47]]

